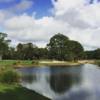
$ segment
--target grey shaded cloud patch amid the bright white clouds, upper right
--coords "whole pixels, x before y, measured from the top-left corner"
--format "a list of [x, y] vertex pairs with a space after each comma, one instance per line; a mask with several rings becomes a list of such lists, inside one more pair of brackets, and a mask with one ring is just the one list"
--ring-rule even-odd
[[56, 16], [58, 20], [66, 21], [70, 27], [86, 29], [92, 27], [85, 20], [81, 19], [81, 14], [77, 9], [69, 9], [62, 15]]

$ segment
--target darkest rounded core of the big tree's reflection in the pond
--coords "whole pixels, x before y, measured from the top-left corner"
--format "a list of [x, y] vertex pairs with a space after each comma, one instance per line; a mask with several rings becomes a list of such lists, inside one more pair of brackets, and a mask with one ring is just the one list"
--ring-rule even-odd
[[57, 93], [65, 92], [72, 85], [72, 77], [68, 74], [53, 74], [50, 78], [50, 85]]

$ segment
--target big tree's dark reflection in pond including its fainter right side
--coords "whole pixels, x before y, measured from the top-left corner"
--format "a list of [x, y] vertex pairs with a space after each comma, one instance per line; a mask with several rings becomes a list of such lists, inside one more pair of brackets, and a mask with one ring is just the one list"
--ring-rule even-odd
[[77, 73], [70, 73], [66, 70], [66, 72], [61, 71], [59, 73], [52, 73], [50, 76], [51, 89], [54, 90], [56, 93], [64, 93], [68, 91], [73, 84], [78, 84], [80, 81], [81, 68], [79, 68], [79, 71], [77, 71]]

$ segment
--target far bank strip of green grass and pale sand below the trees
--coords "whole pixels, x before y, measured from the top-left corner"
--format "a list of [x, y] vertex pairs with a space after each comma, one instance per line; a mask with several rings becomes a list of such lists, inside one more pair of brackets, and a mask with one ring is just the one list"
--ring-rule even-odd
[[44, 66], [79, 66], [82, 64], [99, 64], [100, 60], [78, 60], [74, 61], [57, 61], [57, 60], [2, 60], [0, 61], [0, 70], [11, 68], [30, 68]]

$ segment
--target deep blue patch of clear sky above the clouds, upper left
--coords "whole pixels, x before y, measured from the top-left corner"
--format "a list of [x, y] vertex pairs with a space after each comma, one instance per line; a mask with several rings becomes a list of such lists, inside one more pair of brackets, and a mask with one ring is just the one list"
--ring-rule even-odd
[[[0, 9], [1, 10], [8, 10], [8, 9], [13, 9], [14, 6], [20, 4], [23, 0], [2, 0], [0, 2]], [[52, 13], [49, 11], [49, 9], [53, 8], [53, 4], [51, 0], [24, 0], [27, 2], [31, 2], [31, 6], [28, 7], [25, 10], [22, 11], [16, 11], [13, 12], [15, 14], [22, 14], [22, 13], [27, 13], [31, 15], [33, 12], [36, 12], [36, 17], [40, 18], [43, 16], [51, 16]]]

